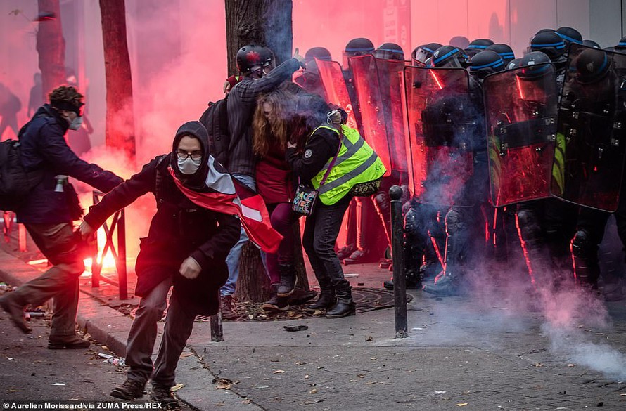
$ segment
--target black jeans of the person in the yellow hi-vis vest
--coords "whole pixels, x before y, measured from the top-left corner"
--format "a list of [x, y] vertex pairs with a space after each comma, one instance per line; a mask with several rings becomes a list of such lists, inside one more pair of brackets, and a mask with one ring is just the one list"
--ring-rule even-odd
[[346, 196], [333, 205], [318, 202], [313, 214], [307, 217], [302, 246], [309, 256], [309, 261], [322, 291], [329, 287], [338, 289], [349, 286], [343, 277], [341, 262], [335, 252], [335, 242], [341, 228], [343, 214], [350, 204], [351, 197]]

